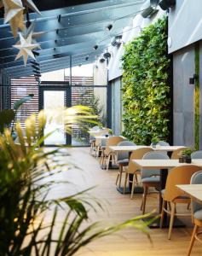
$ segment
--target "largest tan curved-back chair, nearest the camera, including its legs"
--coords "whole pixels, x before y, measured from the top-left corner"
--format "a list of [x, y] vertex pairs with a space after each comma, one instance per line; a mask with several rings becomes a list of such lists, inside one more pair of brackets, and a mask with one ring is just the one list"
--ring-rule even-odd
[[[167, 212], [170, 215], [170, 227], [168, 233], [168, 239], [170, 239], [172, 226], [175, 216], [191, 216], [190, 213], [177, 213], [176, 204], [177, 203], [190, 203], [190, 198], [185, 196], [182, 190], [177, 189], [176, 185], [178, 184], [189, 184], [193, 173], [198, 172], [201, 168], [199, 166], [177, 166], [170, 170], [165, 189], [161, 191], [163, 198], [160, 227], [163, 226], [164, 221], [164, 212]], [[171, 211], [166, 209], [166, 204], [170, 203]]]

